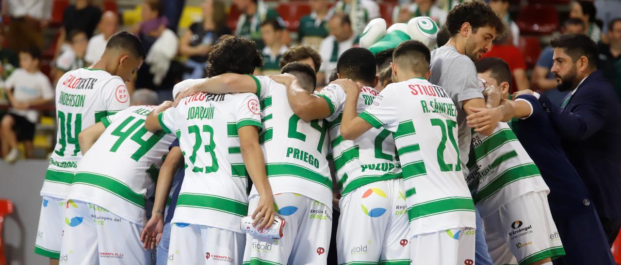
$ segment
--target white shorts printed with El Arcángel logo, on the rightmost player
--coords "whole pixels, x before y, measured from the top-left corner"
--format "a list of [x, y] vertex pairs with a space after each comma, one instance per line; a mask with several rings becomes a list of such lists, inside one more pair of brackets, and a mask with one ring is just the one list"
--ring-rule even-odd
[[545, 192], [515, 198], [485, 217], [483, 222], [494, 264], [511, 261], [515, 264], [516, 260], [519, 264], [531, 264], [565, 253]]

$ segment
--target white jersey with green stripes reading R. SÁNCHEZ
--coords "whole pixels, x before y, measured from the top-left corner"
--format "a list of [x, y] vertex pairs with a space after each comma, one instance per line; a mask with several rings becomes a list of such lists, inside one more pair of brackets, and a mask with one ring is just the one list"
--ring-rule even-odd
[[411, 235], [475, 227], [474, 204], [461, 172], [456, 115], [442, 87], [417, 78], [388, 85], [359, 115], [394, 136]]

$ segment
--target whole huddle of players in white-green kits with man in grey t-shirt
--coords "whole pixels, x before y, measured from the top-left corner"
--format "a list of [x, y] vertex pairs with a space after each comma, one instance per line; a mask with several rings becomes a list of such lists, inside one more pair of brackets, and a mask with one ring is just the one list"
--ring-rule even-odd
[[[495, 15], [474, 1], [448, 20], [472, 9]], [[480, 57], [502, 28], [464, 27], [433, 52], [400, 43], [381, 85], [373, 53], [351, 48], [338, 58], [338, 79], [318, 92], [305, 63], [252, 76], [261, 64], [254, 43], [227, 35], [209, 55], [208, 78], [184, 80], [175, 102], [159, 106], [130, 106], [124, 81], [145, 54], [137, 38], [117, 33], [92, 69], [58, 82], [58, 144], [35, 252], [61, 264], [149, 264], [144, 246], [157, 235], [143, 231], [145, 205], [155, 196], [161, 219], [172, 180], [158, 170], [178, 139], [185, 177], [168, 264], [326, 264], [337, 251], [339, 264], [471, 265], [483, 230], [501, 263], [563, 256], [548, 186], [494, 118], [508, 121], [517, 111], [507, 109], [532, 105], [532, 96], [508, 102], [479, 81], [457, 47]], [[483, 46], [459, 43], [468, 35]], [[84, 100], [61, 103], [61, 93]], [[340, 219], [330, 250], [334, 193]], [[247, 215], [258, 230], [284, 219], [283, 237], [243, 233]]]

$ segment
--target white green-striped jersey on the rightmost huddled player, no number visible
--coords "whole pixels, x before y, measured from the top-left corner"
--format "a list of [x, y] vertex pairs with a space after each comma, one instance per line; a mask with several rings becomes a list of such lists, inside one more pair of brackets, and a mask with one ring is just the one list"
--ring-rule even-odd
[[498, 123], [491, 136], [473, 131], [468, 169], [466, 182], [481, 217], [523, 194], [550, 192], [507, 123]]

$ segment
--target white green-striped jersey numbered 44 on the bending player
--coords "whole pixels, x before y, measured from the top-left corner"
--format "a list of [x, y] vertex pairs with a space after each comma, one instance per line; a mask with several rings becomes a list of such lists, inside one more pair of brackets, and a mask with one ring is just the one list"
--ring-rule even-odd
[[101, 206], [135, 224], [145, 224], [145, 202], [175, 136], [150, 133], [145, 120], [156, 106], [130, 106], [101, 119], [106, 131], [78, 162], [67, 198]]

